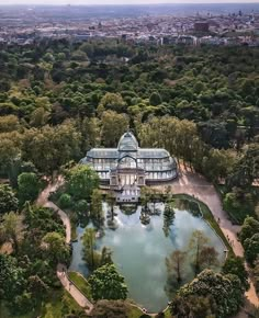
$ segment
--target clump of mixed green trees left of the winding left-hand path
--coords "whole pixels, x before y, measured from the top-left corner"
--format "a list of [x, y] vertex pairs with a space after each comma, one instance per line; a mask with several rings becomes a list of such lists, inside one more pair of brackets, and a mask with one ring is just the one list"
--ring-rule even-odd
[[56, 276], [58, 262], [68, 263], [70, 249], [57, 214], [26, 203], [21, 214], [2, 217], [1, 242], [12, 245], [11, 254], [0, 254], [0, 295], [10, 315], [25, 315], [47, 304], [61, 286]]

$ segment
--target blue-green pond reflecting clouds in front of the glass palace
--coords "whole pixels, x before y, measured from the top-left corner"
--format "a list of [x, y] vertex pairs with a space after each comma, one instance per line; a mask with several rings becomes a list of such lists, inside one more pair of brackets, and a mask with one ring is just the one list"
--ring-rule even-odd
[[[105, 203], [103, 207], [106, 212]], [[128, 298], [134, 299], [149, 313], [165, 309], [171, 298], [167, 288], [168, 273], [165, 260], [177, 249], [188, 249], [194, 230], [203, 231], [210, 239], [209, 245], [218, 252], [219, 264], [223, 263], [225, 257], [225, 246], [222, 240], [203, 218], [196, 215], [199, 211], [196, 203], [190, 204], [190, 201], [177, 200], [174, 219], [169, 226], [168, 236], [162, 229], [164, 208], [162, 203], [157, 203], [156, 209], [160, 211], [160, 215], [151, 216], [150, 223], [144, 226], [139, 222], [140, 206], [136, 207], [135, 213], [131, 215], [115, 207], [117, 228], [112, 230], [105, 227], [105, 235], [98, 239], [98, 248], [101, 249], [103, 246], [111, 248], [112, 259], [128, 286]], [[78, 227], [78, 242], [74, 243], [69, 270], [88, 276], [89, 271], [81, 259], [80, 237], [83, 230]], [[183, 283], [194, 277], [190, 257], [185, 261], [183, 273]]]

